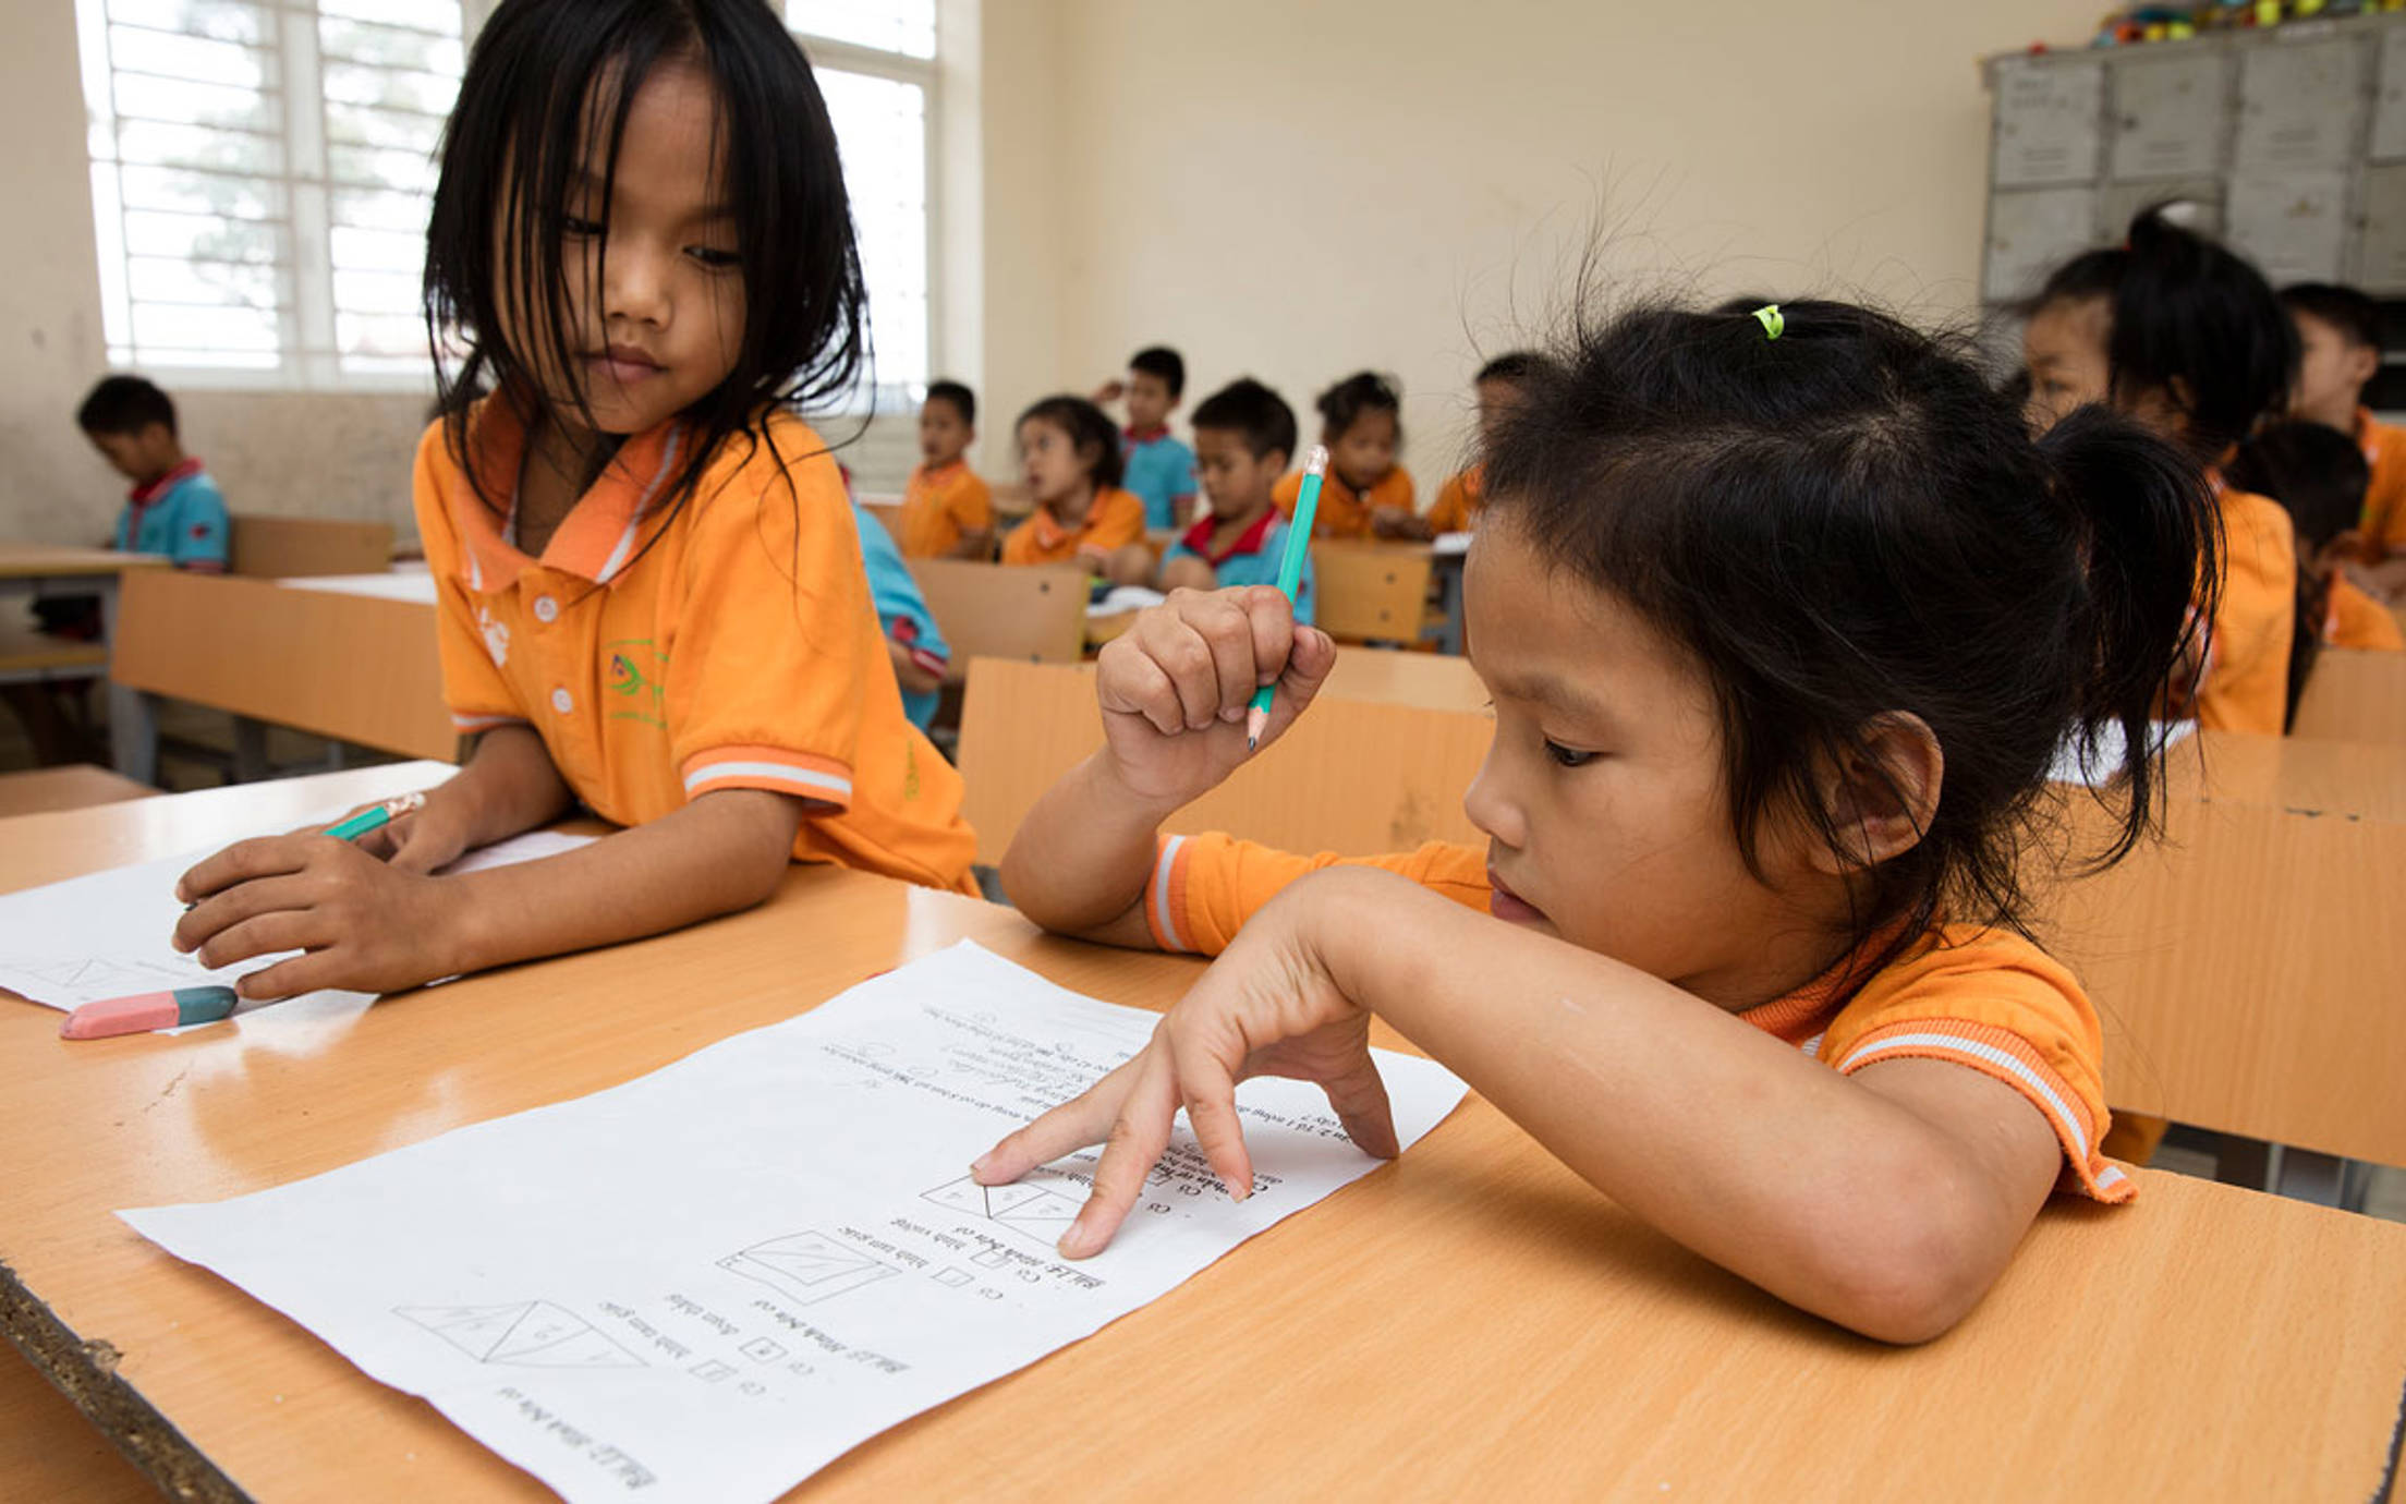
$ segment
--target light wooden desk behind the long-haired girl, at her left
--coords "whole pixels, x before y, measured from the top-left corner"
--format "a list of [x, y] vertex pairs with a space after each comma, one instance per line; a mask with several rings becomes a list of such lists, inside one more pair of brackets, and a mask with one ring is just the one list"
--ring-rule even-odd
[[443, 707], [433, 580], [346, 582], [154, 573], [128, 582], [113, 676], [128, 691], [231, 710], [416, 758], [460, 746]]

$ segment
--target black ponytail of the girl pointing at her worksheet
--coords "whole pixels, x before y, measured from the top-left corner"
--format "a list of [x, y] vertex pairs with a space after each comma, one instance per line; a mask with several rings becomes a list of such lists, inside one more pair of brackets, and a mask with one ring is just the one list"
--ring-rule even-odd
[[2108, 727], [2122, 736], [2127, 809], [2093, 861], [2110, 866], [2161, 823], [2163, 746], [2153, 722], [2221, 602], [2221, 510], [2194, 460], [2103, 407], [2074, 411], [2035, 443], [2088, 541], [2079, 635], [2093, 652], [2074, 724], [2086, 746]]

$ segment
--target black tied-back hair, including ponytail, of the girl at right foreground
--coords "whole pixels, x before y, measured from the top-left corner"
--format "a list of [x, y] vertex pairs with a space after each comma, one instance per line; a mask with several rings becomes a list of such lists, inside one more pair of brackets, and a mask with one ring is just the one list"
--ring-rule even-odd
[[1855, 938], [1903, 919], [1906, 943], [1939, 914], [2019, 926], [2021, 830], [2067, 736], [2139, 748], [2098, 859], [2153, 818], [2146, 727], [2192, 587], [2214, 592], [2204, 476], [2103, 409], [2033, 443], [1968, 342], [1821, 301], [1773, 322], [1653, 306], [1576, 332], [1485, 452], [1487, 525], [1711, 681], [1749, 866], [1780, 813], [1845, 857], [1821, 770], [1877, 765], [1867, 734], [1908, 712], [1944, 787], [1862, 883]]

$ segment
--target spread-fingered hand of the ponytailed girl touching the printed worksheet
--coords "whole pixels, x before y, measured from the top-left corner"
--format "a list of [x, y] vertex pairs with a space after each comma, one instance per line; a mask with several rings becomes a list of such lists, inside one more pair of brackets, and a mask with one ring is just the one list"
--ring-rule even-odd
[[1095, 1191], [1059, 1244], [1068, 1259], [1100, 1254], [1169, 1148], [1184, 1107], [1213, 1174], [1244, 1201], [1254, 1160], [1237, 1083], [1254, 1076], [1316, 1080], [1355, 1145], [1393, 1160], [1395, 1117], [1369, 1056], [1371, 1016], [1338, 989], [1311, 938], [1321, 924], [1343, 922], [1345, 888], [1362, 876], [1323, 871], [1263, 905], [1136, 1059], [986, 1150], [970, 1165], [977, 1184], [998, 1186], [1102, 1143]]

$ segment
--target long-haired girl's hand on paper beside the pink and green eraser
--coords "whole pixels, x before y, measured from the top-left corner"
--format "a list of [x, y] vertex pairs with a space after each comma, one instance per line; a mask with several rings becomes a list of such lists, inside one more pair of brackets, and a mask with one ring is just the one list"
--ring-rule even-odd
[[176, 948], [207, 967], [306, 951], [236, 982], [245, 999], [399, 991], [462, 970], [448, 955], [460, 893], [332, 835], [267, 835], [183, 874], [176, 898], [192, 907], [176, 924]]

